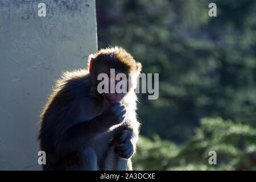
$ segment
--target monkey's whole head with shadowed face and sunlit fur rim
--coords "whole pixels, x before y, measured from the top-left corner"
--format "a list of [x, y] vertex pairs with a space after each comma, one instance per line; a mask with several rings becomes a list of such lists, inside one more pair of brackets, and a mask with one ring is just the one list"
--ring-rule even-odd
[[[97, 88], [99, 94], [103, 94], [107, 104], [120, 102], [129, 90], [136, 88], [142, 68], [141, 63], [135, 61], [133, 56], [121, 47], [101, 49], [96, 55], [89, 56], [88, 63], [92, 85]], [[106, 82], [109, 84], [101, 84], [104, 75], [98, 80], [101, 73], [108, 75]]]

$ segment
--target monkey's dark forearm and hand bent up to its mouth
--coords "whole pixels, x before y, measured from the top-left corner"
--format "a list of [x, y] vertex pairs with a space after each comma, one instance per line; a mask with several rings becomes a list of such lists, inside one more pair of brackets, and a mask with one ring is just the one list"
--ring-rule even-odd
[[70, 152], [74, 148], [89, 145], [95, 137], [123, 122], [126, 112], [123, 109], [124, 107], [112, 106], [93, 119], [69, 127], [56, 140], [56, 150]]

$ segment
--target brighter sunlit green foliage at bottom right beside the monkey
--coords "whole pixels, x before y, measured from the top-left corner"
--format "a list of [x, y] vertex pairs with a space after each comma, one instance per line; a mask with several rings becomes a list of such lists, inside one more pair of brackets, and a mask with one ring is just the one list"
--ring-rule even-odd
[[[255, 170], [256, 129], [249, 125], [203, 118], [195, 135], [181, 146], [140, 137], [133, 158], [137, 170]], [[217, 164], [210, 165], [209, 151], [216, 151]]]

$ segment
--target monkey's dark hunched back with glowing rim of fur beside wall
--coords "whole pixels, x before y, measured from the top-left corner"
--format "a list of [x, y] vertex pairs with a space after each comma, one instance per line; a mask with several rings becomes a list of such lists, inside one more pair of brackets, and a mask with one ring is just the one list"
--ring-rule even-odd
[[[58, 142], [61, 134], [71, 125], [69, 121], [76, 115], [77, 96], [86, 97], [90, 92], [90, 77], [88, 71], [83, 69], [65, 72], [56, 85], [53, 92], [48, 98], [46, 106], [40, 115], [39, 137], [40, 148], [46, 152], [47, 164], [43, 165], [43, 169], [52, 170], [53, 165], [59, 162], [60, 158], [71, 155], [76, 158], [75, 152], [65, 154], [64, 151], [58, 150]], [[61, 155], [60, 155], [61, 154]]]

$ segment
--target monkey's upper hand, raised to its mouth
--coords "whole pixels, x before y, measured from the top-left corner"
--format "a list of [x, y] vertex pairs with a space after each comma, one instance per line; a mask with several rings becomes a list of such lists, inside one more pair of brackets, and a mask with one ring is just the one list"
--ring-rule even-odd
[[108, 127], [122, 123], [126, 117], [125, 105], [120, 103], [110, 105], [104, 112], [103, 117]]

